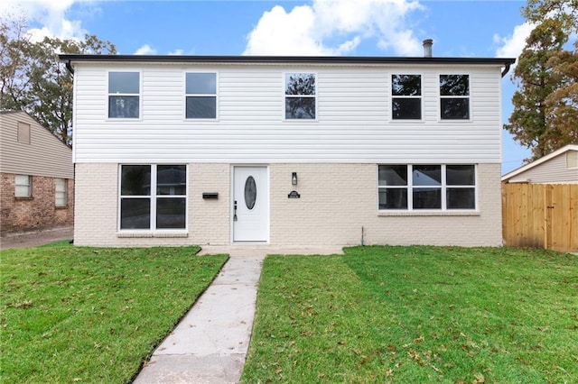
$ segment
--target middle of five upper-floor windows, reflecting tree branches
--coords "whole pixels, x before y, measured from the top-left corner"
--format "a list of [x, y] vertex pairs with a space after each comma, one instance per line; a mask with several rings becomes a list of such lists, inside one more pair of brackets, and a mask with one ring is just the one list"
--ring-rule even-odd
[[315, 119], [315, 74], [285, 74], [285, 119]]

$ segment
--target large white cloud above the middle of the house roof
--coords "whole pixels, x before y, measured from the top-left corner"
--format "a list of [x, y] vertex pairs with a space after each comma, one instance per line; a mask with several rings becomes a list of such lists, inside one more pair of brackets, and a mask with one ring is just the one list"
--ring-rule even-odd
[[423, 9], [412, 0], [313, 0], [286, 12], [275, 5], [247, 36], [246, 55], [341, 55], [364, 39], [398, 55], [416, 56], [421, 43], [406, 16]]

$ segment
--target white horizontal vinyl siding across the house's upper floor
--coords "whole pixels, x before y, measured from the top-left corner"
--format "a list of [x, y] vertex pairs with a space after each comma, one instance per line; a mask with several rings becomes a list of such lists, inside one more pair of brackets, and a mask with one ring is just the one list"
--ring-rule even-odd
[[[131, 68], [135, 63], [130, 63]], [[499, 66], [310, 66], [316, 120], [284, 120], [286, 66], [144, 63], [141, 121], [104, 119], [106, 74], [122, 63], [76, 65], [76, 162], [500, 162]], [[289, 70], [288, 70], [289, 69]], [[183, 72], [219, 73], [219, 120], [183, 119]], [[439, 74], [469, 73], [468, 122], [439, 118]], [[391, 75], [422, 75], [422, 120], [391, 117]]]

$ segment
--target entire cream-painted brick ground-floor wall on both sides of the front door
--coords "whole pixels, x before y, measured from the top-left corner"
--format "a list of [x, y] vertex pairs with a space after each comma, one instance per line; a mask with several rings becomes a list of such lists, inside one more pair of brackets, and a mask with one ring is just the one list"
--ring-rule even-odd
[[[151, 246], [230, 242], [229, 164], [189, 164], [186, 236], [154, 237], [117, 231], [118, 165], [77, 164], [79, 245]], [[298, 185], [291, 184], [297, 172]], [[473, 213], [378, 212], [376, 164], [270, 164], [272, 245], [435, 244], [499, 246], [500, 165], [478, 167], [478, 211]], [[301, 198], [287, 198], [297, 190]], [[202, 192], [219, 199], [203, 200]]]

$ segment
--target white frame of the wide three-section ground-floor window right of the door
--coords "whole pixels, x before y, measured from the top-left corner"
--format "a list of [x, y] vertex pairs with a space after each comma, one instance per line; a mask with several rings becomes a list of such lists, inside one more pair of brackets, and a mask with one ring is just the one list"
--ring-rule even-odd
[[[379, 185], [379, 166], [380, 165], [405, 165], [407, 171], [407, 185], [406, 186], [380, 186]], [[440, 165], [441, 172], [442, 172], [442, 185], [439, 187], [442, 190], [442, 208], [440, 209], [414, 209], [414, 199], [413, 199], [413, 191], [414, 191], [414, 180], [412, 177], [412, 172], [414, 170], [414, 166], [420, 165]], [[446, 181], [446, 167], [448, 165], [473, 165], [474, 167], [474, 185], [473, 186], [448, 186]], [[480, 199], [479, 199], [479, 191], [480, 191], [480, 180], [478, 178], [478, 164], [468, 164], [468, 163], [459, 163], [459, 164], [435, 164], [435, 163], [419, 163], [419, 164], [387, 164], [387, 163], [380, 163], [376, 169], [377, 171], [377, 185], [378, 185], [378, 215], [383, 216], [432, 216], [432, 215], [480, 215]], [[435, 187], [435, 186], [416, 186], [415, 188], [420, 187]], [[473, 209], [448, 209], [447, 208], [447, 188], [474, 188], [474, 208]], [[407, 190], [407, 208], [406, 209], [379, 209], [379, 191], [383, 189], [406, 189]]]

